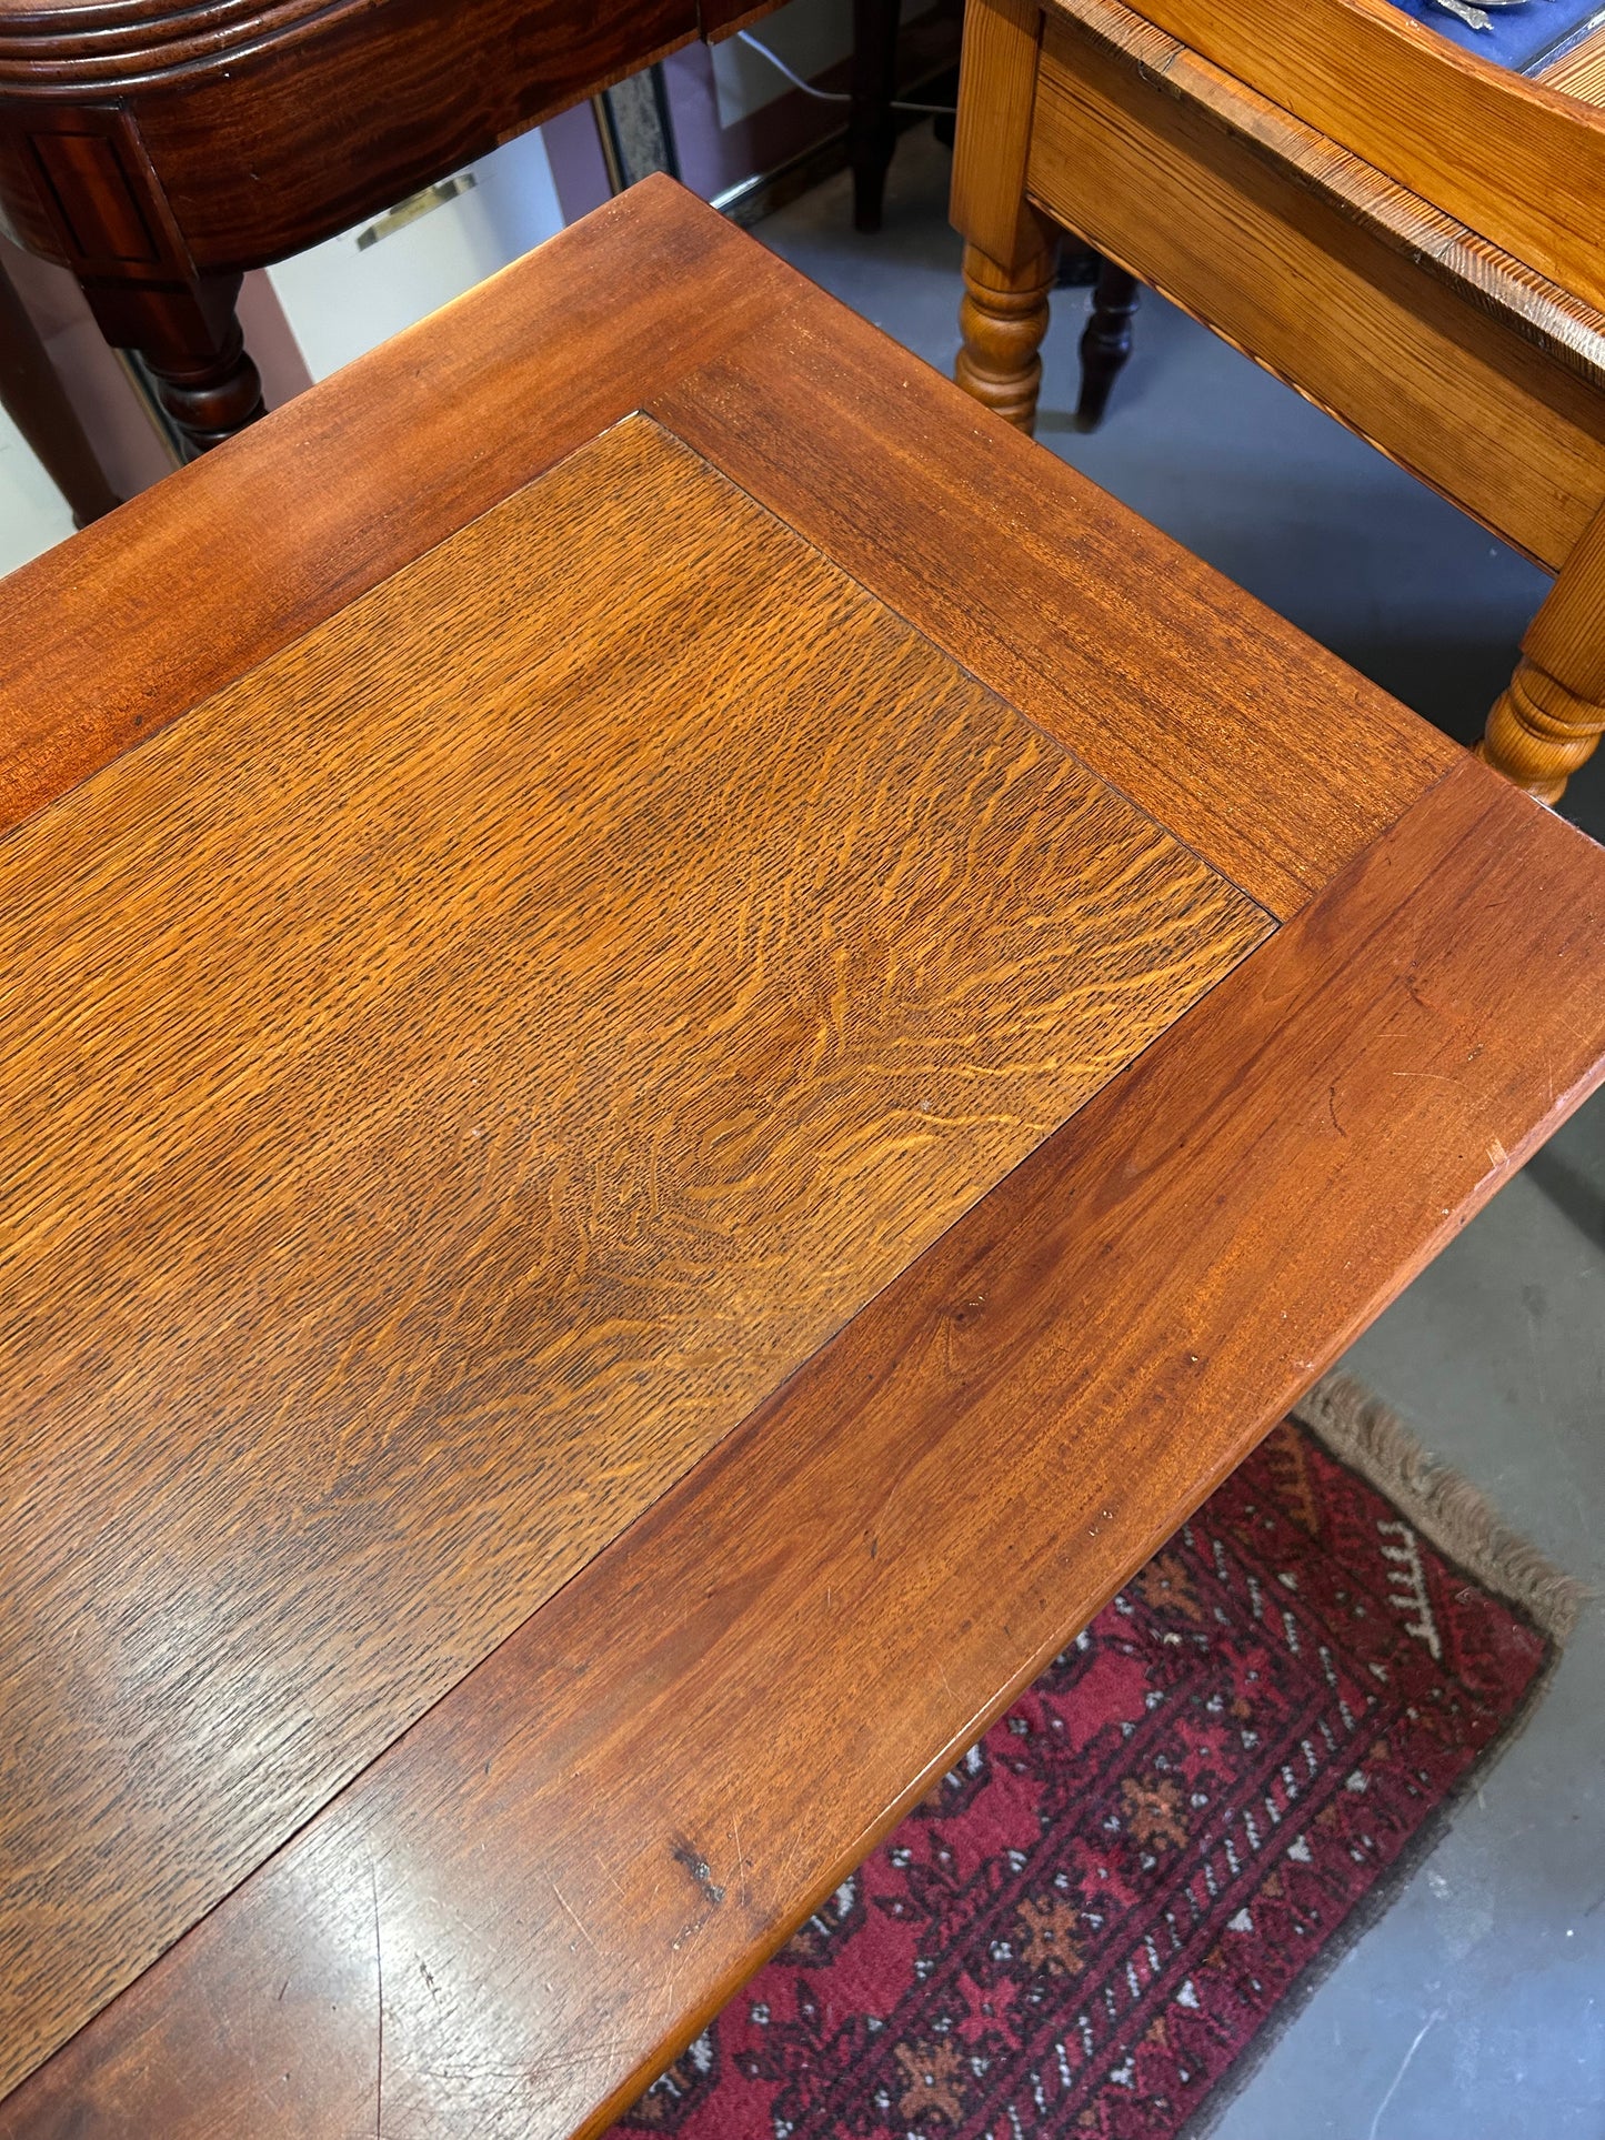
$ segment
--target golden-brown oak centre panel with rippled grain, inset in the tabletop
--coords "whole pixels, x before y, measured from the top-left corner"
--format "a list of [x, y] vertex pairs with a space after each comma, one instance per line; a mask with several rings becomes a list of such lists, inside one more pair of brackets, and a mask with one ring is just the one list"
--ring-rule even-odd
[[13, 832], [0, 2084], [1267, 929], [644, 417]]

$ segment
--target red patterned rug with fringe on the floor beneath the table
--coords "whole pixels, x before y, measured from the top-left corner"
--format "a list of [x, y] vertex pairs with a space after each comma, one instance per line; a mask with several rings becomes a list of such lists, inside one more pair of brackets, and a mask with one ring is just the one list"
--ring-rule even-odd
[[1329, 1380], [623, 2127], [1177, 2140], [1522, 1721], [1575, 1586]]

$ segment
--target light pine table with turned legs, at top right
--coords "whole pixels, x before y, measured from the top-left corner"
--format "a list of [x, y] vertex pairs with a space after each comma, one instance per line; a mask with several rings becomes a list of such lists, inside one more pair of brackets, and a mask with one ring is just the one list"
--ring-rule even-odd
[[1560, 574], [1483, 743], [1556, 800], [1605, 728], [1601, 199], [1605, 113], [1387, 0], [972, 0], [959, 379], [1029, 428], [1059, 227], [1113, 263], [1085, 419], [1132, 276], [1237, 342]]

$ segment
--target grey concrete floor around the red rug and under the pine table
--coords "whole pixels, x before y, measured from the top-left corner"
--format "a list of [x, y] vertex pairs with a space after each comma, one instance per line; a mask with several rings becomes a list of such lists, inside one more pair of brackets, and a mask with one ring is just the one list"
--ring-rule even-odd
[[[903, 139], [886, 229], [832, 180], [758, 235], [948, 370], [948, 158]], [[1042, 443], [1440, 728], [1472, 740], [1545, 576], [1147, 297], [1091, 439], [1085, 293], [1044, 349]], [[1605, 837], [1605, 751], [1566, 800]], [[1511, 886], [1519, 897], [1519, 886]], [[1605, 1096], [1355, 1346], [1352, 1374], [1562, 1569], [1605, 1590]], [[1605, 2140], [1605, 1607], [1532, 1723], [1230, 2104], [1218, 2140]]]

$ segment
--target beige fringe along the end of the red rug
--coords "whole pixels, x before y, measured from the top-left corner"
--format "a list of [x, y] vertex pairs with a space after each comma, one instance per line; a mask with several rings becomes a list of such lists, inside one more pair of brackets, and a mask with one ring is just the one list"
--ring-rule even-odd
[[1556, 1648], [1564, 1646], [1594, 1592], [1502, 1524], [1487, 1496], [1430, 1455], [1380, 1397], [1346, 1374], [1329, 1374], [1293, 1417], [1370, 1479], [1440, 1554], [1519, 1605]]

